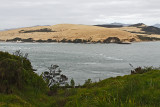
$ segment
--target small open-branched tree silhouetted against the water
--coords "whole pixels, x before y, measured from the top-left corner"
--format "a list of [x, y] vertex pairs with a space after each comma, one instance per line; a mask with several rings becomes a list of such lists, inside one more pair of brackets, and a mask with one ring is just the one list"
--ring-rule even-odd
[[53, 85], [63, 85], [66, 84], [66, 81], [68, 78], [61, 74], [61, 70], [58, 65], [51, 65], [51, 67], [48, 67], [49, 71], [45, 71], [42, 76], [43, 79], [48, 83], [48, 87], [51, 87]]

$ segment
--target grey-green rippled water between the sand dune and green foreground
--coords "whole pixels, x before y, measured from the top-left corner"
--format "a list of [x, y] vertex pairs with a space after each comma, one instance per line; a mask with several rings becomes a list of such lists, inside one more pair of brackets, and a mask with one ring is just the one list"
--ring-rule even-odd
[[72, 44], [72, 43], [0, 43], [0, 50], [29, 53], [37, 73], [41, 74], [51, 64], [60, 66], [62, 73], [77, 84], [114, 76], [130, 74], [131, 63], [137, 66], [160, 66], [160, 42], [122, 44]]

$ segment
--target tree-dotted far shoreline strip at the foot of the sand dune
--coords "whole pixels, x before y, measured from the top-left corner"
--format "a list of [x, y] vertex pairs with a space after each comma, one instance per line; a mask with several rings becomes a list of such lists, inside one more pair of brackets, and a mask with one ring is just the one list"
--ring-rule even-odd
[[0, 43], [74, 43], [74, 44], [132, 44], [132, 43], [140, 43], [140, 42], [159, 42], [160, 39], [151, 38], [150, 40], [141, 40], [141, 41], [121, 41], [117, 37], [109, 37], [103, 41], [88, 41], [83, 39], [75, 39], [75, 40], [33, 40], [32, 38], [28, 39], [21, 39], [21, 38], [14, 38], [8, 40], [0, 40]]

